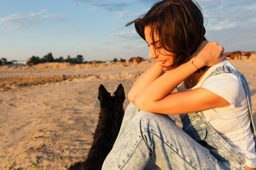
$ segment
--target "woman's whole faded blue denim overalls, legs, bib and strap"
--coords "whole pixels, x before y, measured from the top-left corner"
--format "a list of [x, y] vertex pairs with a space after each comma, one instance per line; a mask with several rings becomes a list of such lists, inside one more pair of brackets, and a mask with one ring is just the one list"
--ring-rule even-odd
[[[250, 92], [245, 78], [226, 66], [218, 67], [209, 76], [221, 73], [233, 73], [241, 78], [255, 136]], [[163, 170], [245, 169], [244, 160], [212, 129], [203, 113], [189, 113], [181, 121], [183, 129], [166, 114], [139, 111], [130, 103], [102, 169], [144, 169], [150, 159]]]

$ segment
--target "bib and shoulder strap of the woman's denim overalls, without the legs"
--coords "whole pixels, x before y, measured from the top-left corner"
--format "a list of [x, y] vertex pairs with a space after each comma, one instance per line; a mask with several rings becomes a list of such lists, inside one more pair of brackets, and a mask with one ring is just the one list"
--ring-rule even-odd
[[[251, 130], [255, 140], [255, 127], [251, 111], [250, 90], [245, 77], [237, 70], [228, 66], [217, 67], [207, 78], [222, 73], [236, 74], [245, 88], [247, 104], [250, 112]], [[209, 149], [210, 153], [227, 169], [245, 169], [245, 162], [241, 156], [208, 124], [202, 112], [189, 113], [181, 120], [183, 130], [190, 137]]]

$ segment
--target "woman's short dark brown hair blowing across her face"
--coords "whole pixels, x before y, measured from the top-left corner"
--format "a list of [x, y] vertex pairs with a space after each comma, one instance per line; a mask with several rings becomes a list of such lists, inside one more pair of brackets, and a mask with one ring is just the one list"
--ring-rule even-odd
[[[169, 69], [187, 62], [200, 42], [206, 40], [201, 8], [191, 0], [160, 1], [146, 14], [127, 23], [126, 26], [133, 23], [144, 40], [144, 28], [151, 28], [151, 38], [156, 50], [160, 45], [160, 48], [174, 54], [173, 64]], [[157, 46], [154, 40], [155, 33], [160, 40]]]

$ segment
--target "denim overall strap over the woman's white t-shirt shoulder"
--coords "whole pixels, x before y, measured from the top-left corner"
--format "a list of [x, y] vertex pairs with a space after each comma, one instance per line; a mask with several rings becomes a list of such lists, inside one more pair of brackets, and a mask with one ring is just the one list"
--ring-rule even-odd
[[254, 137], [256, 137], [256, 130], [255, 130], [254, 122], [253, 122], [253, 112], [251, 110], [250, 88], [249, 88], [248, 83], [245, 79], [245, 76], [242, 73], [240, 73], [239, 71], [237, 71], [235, 69], [230, 69], [228, 66], [223, 65], [223, 66], [217, 67], [215, 70], [213, 70], [212, 73], [206, 79], [210, 78], [213, 75], [218, 75], [218, 74], [222, 74], [222, 73], [232, 73], [232, 74], [237, 75], [241, 79], [242, 84], [243, 84], [243, 88], [245, 88], [247, 104], [248, 104], [248, 108], [249, 108], [249, 112], [250, 112], [251, 130], [253, 132]]

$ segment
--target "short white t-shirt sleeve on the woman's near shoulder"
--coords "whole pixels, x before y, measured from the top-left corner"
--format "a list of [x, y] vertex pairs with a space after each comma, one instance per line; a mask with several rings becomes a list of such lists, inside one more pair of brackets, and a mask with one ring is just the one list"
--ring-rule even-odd
[[214, 75], [205, 80], [201, 87], [221, 96], [228, 101], [232, 107], [236, 107], [236, 103], [242, 96], [241, 93], [245, 93], [240, 78], [230, 73]]

